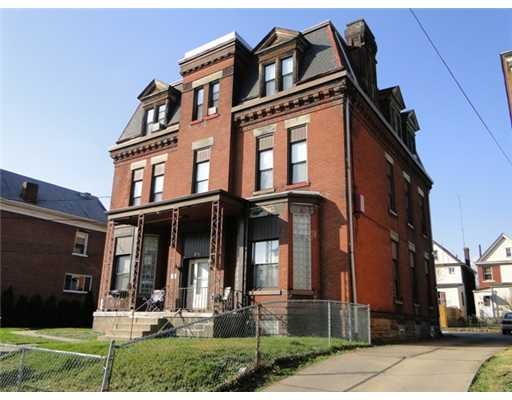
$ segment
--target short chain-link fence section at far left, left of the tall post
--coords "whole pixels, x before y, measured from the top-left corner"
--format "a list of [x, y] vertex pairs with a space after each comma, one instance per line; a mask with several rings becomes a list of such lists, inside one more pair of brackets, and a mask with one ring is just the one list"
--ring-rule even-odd
[[0, 391], [99, 391], [107, 357], [17, 346], [0, 355]]

